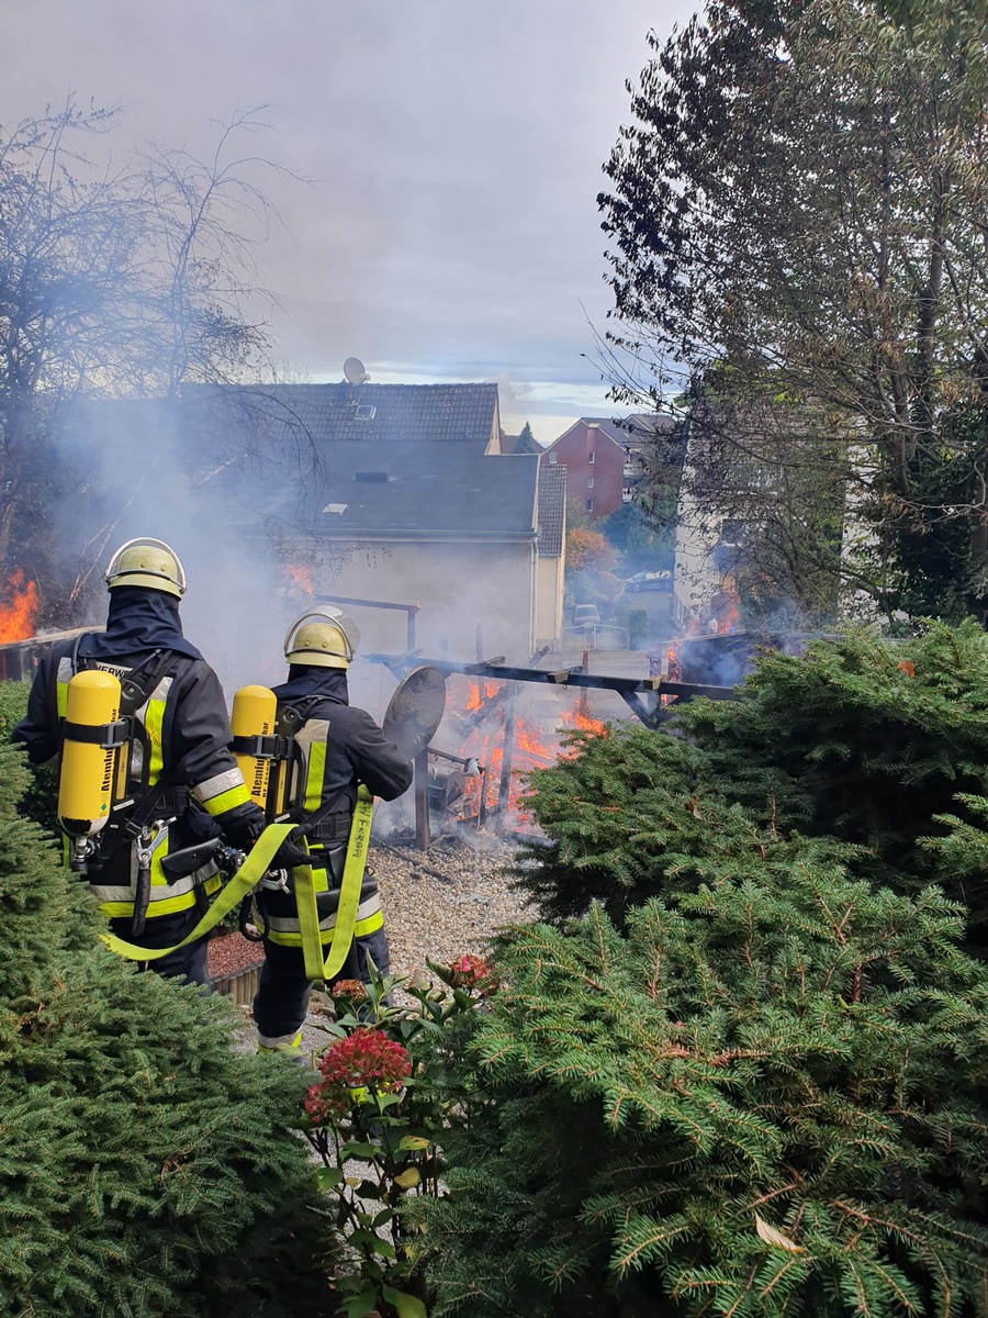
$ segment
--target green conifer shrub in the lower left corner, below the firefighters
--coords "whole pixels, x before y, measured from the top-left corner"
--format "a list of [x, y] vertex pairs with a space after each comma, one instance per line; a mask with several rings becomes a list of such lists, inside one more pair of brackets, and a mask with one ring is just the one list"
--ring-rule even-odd
[[236, 1012], [99, 942], [0, 743], [0, 1311], [270, 1318], [327, 1305], [290, 1126], [306, 1078], [234, 1050]]

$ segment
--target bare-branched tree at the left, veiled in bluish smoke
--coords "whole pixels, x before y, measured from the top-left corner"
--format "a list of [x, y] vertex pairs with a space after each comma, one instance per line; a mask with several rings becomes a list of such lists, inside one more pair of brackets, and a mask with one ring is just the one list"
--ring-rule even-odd
[[[63, 622], [76, 564], [58, 559], [53, 510], [91, 509], [88, 561], [120, 517], [72, 440], [79, 405], [174, 399], [188, 382], [237, 378], [266, 347], [252, 245], [273, 211], [252, 182], [260, 162], [229, 158], [261, 119], [238, 115], [203, 162], [155, 149], [100, 167], [82, 146], [117, 123], [70, 101], [0, 130], [0, 577], [30, 567]], [[129, 444], [134, 486], [157, 457]]]

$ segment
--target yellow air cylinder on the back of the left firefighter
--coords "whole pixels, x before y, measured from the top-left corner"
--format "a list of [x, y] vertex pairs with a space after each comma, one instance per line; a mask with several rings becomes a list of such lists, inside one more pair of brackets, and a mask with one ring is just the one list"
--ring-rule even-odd
[[74, 837], [99, 833], [109, 818], [120, 747], [75, 741], [72, 725], [103, 728], [119, 717], [120, 681], [112, 672], [87, 670], [72, 677], [58, 779], [58, 821]]

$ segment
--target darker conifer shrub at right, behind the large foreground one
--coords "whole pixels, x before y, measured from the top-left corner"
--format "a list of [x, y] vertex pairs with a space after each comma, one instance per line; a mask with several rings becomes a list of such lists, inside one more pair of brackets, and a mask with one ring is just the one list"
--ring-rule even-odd
[[933, 625], [901, 643], [852, 633], [798, 658], [765, 652], [736, 696], [693, 701], [657, 733], [576, 734], [574, 759], [532, 775], [528, 808], [549, 841], [524, 849], [516, 878], [545, 919], [601, 900], [620, 921], [696, 884], [697, 859], [756, 859], [752, 829], [767, 829], [851, 844], [852, 873], [896, 891], [945, 883], [984, 940], [988, 886], [959, 884], [923, 841], [946, 834], [941, 816], [975, 824], [966, 803], [988, 795], [984, 631]]

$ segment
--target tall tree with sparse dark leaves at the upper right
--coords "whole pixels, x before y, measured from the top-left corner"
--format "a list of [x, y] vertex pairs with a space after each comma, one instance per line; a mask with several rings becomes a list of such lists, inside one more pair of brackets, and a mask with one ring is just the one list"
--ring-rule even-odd
[[652, 38], [599, 198], [619, 397], [672, 403], [685, 372], [742, 465], [839, 455], [865, 527], [840, 571], [885, 613], [929, 546], [950, 608], [988, 617], [981, 24], [974, 0], [714, 0]]

